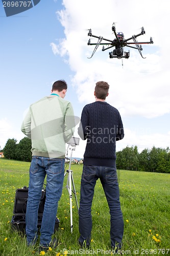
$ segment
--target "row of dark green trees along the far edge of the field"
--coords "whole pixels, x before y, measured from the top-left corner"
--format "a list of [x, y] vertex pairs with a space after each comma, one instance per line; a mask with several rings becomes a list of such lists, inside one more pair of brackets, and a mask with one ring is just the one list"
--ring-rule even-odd
[[[5, 158], [31, 162], [31, 140], [23, 138], [17, 144], [16, 139], [8, 139], [3, 153]], [[137, 146], [127, 146], [116, 152], [117, 169], [138, 170], [140, 172], [170, 173], [170, 150], [153, 146], [145, 148], [141, 153]]]

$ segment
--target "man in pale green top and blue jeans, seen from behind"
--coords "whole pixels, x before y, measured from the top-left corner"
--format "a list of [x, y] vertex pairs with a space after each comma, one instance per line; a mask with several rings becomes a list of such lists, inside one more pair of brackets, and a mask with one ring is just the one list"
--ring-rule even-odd
[[65, 143], [74, 134], [72, 105], [64, 100], [67, 83], [54, 82], [51, 95], [31, 104], [21, 131], [32, 140], [29, 194], [26, 211], [27, 244], [37, 241], [38, 207], [46, 176], [46, 200], [40, 229], [40, 249], [55, 246], [52, 241], [58, 201], [62, 195]]

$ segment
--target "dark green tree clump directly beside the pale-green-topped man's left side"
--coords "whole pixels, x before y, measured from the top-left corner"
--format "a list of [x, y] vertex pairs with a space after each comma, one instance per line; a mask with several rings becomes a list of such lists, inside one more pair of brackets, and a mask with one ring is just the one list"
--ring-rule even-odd
[[16, 147], [16, 160], [31, 162], [31, 139], [25, 137], [19, 141]]

